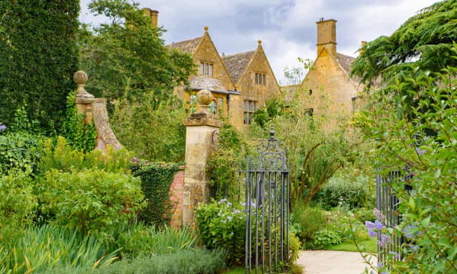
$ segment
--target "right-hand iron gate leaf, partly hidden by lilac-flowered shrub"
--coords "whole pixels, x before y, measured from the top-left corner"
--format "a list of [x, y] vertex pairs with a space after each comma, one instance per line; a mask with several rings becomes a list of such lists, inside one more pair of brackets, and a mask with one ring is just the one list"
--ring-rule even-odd
[[[385, 217], [386, 227], [395, 227], [401, 221], [401, 216], [398, 212], [399, 200], [395, 196], [392, 184], [395, 180], [401, 179], [400, 171], [391, 171], [387, 174], [387, 177], [382, 177], [381, 175], [376, 175], [376, 208], [383, 214]], [[378, 243], [381, 241], [380, 233], [377, 233]], [[394, 234], [393, 239], [387, 242], [386, 245], [381, 246], [378, 244], [377, 253], [378, 253], [378, 262], [383, 265], [389, 265], [393, 262], [389, 262], [388, 256], [389, 252], [398, 252], [398, 249], [401, 248], [403, 243], [403, 238], [396, 236]], [[399, 260], [400, 258], [394, 257], [394, 260]]]

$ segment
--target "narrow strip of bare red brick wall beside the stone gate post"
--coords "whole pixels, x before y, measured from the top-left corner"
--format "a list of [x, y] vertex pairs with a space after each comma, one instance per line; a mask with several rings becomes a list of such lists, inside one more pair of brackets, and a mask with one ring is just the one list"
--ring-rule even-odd
[[184, 190], [184, 166], [181, 166], [175, 173], [173, 182], [170, 185], [170, 204], [173, 206], [173, 215], [170, 225], [179, 228], [182, 224], [182, 197]]

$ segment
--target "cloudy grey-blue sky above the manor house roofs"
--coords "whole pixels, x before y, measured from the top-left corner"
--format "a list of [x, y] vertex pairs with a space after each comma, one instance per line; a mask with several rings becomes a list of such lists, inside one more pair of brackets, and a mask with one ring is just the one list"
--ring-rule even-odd
[[[81, 0], [81, 21], [100, 24]], [[407, 18], [436, 0], [136, 0], [159, 11], [166, 44], [202, 36], [208, 26], [220, 54], [256, 49], [257, 40], [276, 78], [285, 84], [283, 68], [298, 66], [297, 57], [316, 57], [316, 24], [336, 19], [337, 51], [357, 56], [361, 41], [390, 35]]]

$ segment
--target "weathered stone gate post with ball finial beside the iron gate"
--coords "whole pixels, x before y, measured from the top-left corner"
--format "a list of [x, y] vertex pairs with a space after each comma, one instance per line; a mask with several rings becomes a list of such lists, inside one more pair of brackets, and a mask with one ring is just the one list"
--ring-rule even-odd
[[208, 158], [217, 148], [222, 122], [208, 111], [213, 102], [211, 91], [197, 93], [199, 109], [184, 120], [186, 126], [186, 152], [182, 223], [194, 226], [194, 209], [199, 202], [210, 200], [210, 180], [206, 173]]

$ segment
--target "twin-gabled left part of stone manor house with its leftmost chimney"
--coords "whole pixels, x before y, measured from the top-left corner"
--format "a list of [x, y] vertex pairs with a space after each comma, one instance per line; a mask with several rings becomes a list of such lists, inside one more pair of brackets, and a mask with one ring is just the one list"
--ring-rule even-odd
[[[144, 10], [157, 27], [159, 12]], [[254, 50], [220, 55], [205, 26], [202, 36], [167, 47], [191, 54], [198, 67], [197, 74], [189, 76], [189, 85], [175, 88], [188, 109], [196, 110], [199, 90], [210, 90], [214, 95], [210, 110], [228, 117], [238, 130], [253, 122], [254, 112], [264, 106], [266, 99], [281, 92], [260, 40]]]

